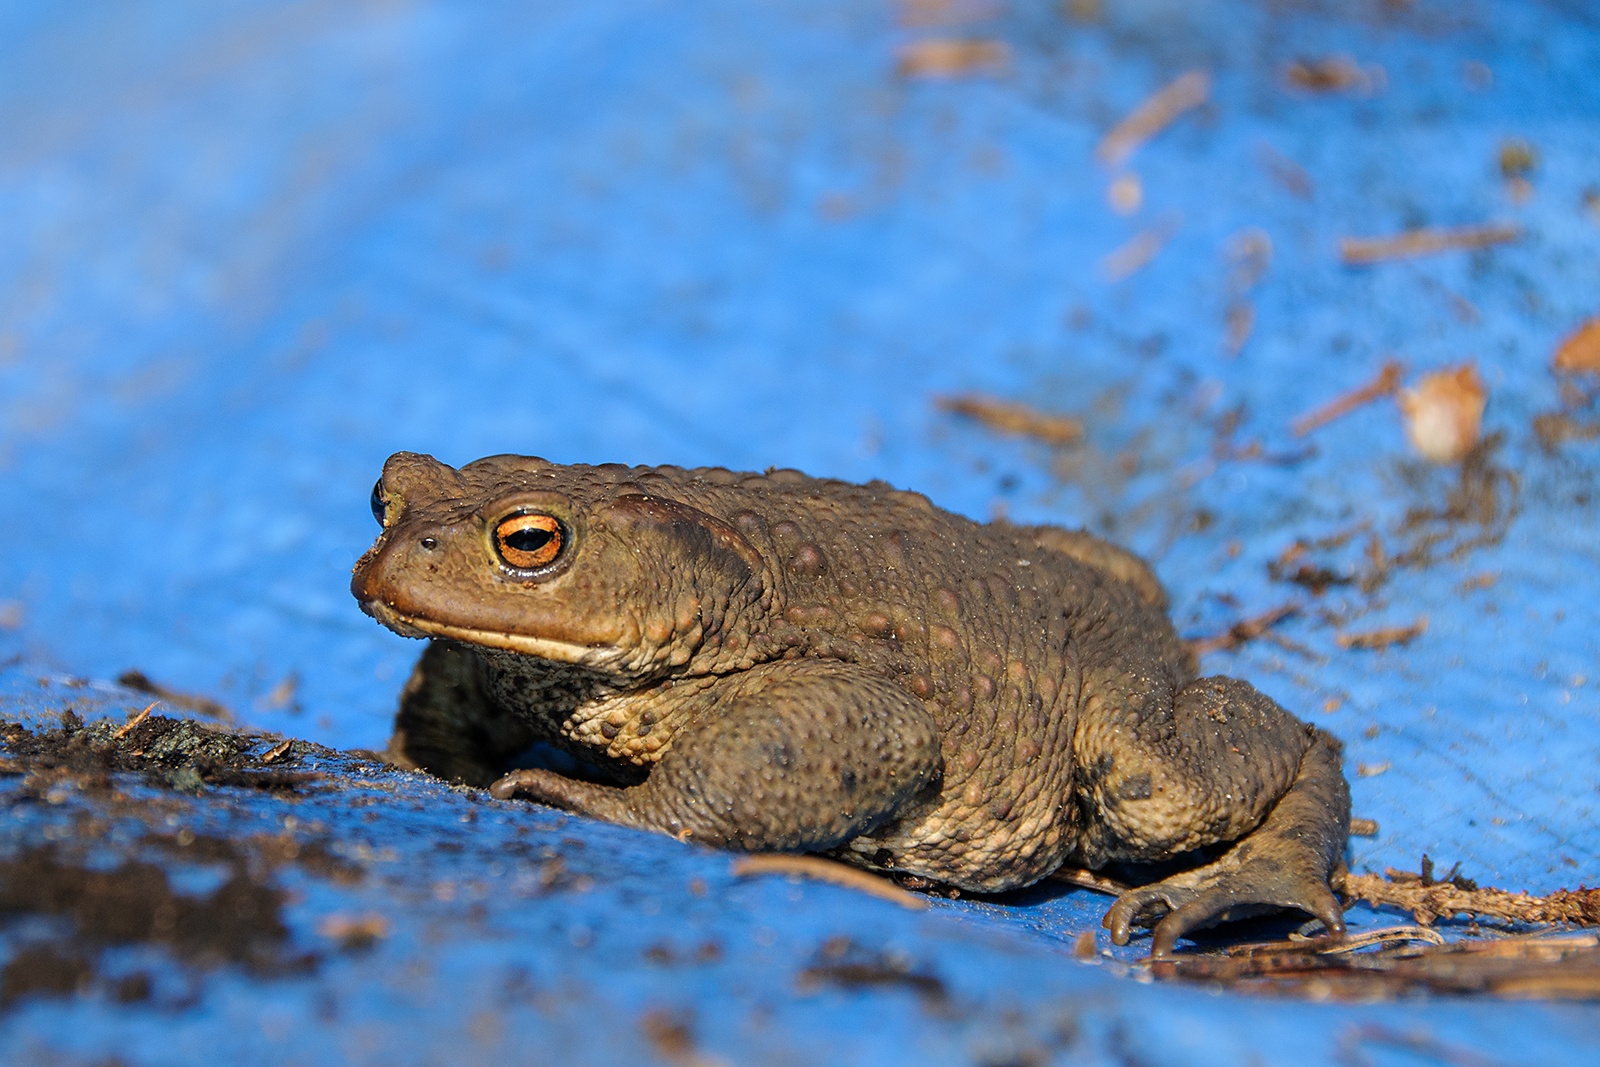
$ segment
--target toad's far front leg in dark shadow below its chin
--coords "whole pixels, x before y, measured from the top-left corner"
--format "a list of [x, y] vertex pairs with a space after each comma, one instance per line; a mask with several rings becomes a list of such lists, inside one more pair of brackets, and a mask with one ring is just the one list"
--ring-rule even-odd
[[530, 744], [528, 726], [485, 697], [477, 656], [450, 641], [429, 641], [400, 691], [384, 755], [406, 769], [488, 785]]

